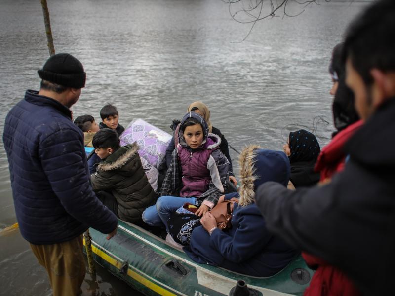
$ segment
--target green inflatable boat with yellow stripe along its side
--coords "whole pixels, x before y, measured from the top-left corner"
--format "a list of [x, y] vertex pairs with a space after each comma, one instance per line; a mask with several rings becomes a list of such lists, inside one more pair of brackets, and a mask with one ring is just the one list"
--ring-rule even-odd
[[110, 240], [92, 228], [89, 232], [94, 260], [145, 295], [224, 296], [238, 280], [245, 281], [254, 295], [302, 295], [313, 276], [301, 257], [267, 278], [197, 264], [158, 236], [121, 220]]

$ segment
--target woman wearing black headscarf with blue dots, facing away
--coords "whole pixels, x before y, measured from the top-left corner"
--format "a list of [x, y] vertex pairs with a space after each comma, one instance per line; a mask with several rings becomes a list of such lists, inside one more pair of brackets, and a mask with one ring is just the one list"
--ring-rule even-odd
[[319, 173], [314, 172], [314, 165], [321, 151], [316, 136], [303, 129], [290, 132], [283, 149], [291, 163], [290, 181], [295, 188], [315, 185]]

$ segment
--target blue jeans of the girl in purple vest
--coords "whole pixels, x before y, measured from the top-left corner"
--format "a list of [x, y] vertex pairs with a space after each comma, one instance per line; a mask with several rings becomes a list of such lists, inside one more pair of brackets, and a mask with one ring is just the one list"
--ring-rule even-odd
[[[143, 221], [151, 226], [162, 227], [163, 224], [167, 229], [167, 220], [170, 214], [175, 212], [179, 207], [182, 207], [186, 202], [196, 205], [196, 197], [177, 197], [177, 196], [161, 196], [157, 203], [148, 207], [143, 212]], [[168, 232], [168, 231], [167, 231]]]

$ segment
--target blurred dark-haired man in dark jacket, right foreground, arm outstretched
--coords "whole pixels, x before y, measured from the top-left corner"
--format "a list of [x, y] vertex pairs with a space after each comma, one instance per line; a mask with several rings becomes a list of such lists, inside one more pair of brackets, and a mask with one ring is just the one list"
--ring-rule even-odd
[[343, 270], [363, 295], [393, 295], [395, 277], [395, 1], [375, 1], [349, 27], [346, 83], [365, 121], [329, 184], [258, 188], [267, 227]]

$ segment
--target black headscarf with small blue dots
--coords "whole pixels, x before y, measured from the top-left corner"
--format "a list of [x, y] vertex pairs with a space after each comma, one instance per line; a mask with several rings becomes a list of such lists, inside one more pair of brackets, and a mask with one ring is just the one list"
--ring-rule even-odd
[[316, 161], [321, 148], [316, 136], [306, 130], [290, 132], [288, 138], [291, 163], [297, 161]]

